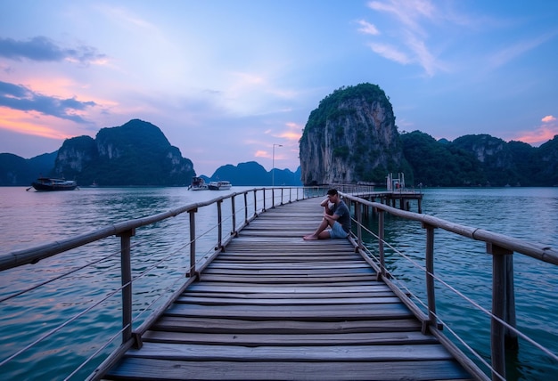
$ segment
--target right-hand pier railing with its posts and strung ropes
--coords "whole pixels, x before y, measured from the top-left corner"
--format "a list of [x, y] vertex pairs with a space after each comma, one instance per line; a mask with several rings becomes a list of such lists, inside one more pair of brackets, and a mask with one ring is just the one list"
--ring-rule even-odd
[[[471, 353], [473, 359], [485, 366], [485, 369], [488, 369], [488, 373], [493, 380], [505, 380], [506, 350], [514, 350], [517, 348], [518, 337], [521, 337], [525, 343], [534, 345], [542, 355], [547, 356], [549, 361], [558, 362], [557, 353], [553, 353], [545, 346], [538, 344], [516, 328], [513, 287], [514, 253], [528, 255], [537, 261], [557, 265], [558, 252], [554, 248], [523, 241], [521, 239], [514, 239], [492, 231], [451, 223], [431, 215], [413, 213], [382, 203], [371, 202], [357, 197], [354, 193], [344, 193], [343, 197], [351, 206], [351, 209], [354, 210], [353, 221], [356, 223], [356, 227], [353, 228], [353, 233], [351, 234], [353, 244], [357, 247], [357, 250], [373, 258], [373, 263], [376, 265], [378, 271], [378, 277], [382, 277], [390, 288], [406, 302], [407, 306], [414, 314], [423, 321], [423, 330], [430, 330], [434, 336], [437, 336], [440, 341], [445, 342], [448, 347], [454, 346], [457, 348], [457, 345], [447, 341], [446, 336], [439, 335], [439, 330], [443, 328], [449, 330], [450, 333], [455, 336], [455, 341], [464, 348], [464, 352]], [[420, 262], [423, 264], [417, 263], [418, 261], [409, 258], [405, 253], [401, 253], [398, 248], [391, 247], [390, 243], [384, 239], [386, 214], [401, 218], [407, 223], [418, 222], [422, 224], [425, 235], [425, 247], [423, 252], [424, 255]], [[377, 233], [370, 231], [365, 226], [366, 224], [363, 223], [364, 215], [374, 215], [377, 218]], [[478, 302], [464, 296], [463, 293], [449, 284], [451, 281], [439, 278], [434, 272], [434, 231], [436, 229], [447, 231], [454, 236], [486, 243], [486, 253], [492, 255], [491, 311], [480, 306]], [[373, 250], [370, 250], [370, 243], [365, 244], [363, 240], [363, 231], [376, 241], [376, 243], [373, 244]], [[423, 272], [423, 300], [414, 295], [407, 296], [407, 293], [410, 293], [408, 289], [407, 293], [404, 293], [401, 291], [401, 288], [398, 288], [396, 283], [398, 285], [401, 283], [398, 282], [390, 272], [390, 265], [386, 264], [386, 247], [390, 247], [390, 253], [405, 257], [406, 260], [412, 262], [412, 266], [420, 269], [420, 272]], [[374, 255], [373, 252], [376, 255]], [[455, 255], [459, 254], [455, 253]], [[398, 263], [400, 260], [401, 258], [395, 258], [392, 261], [393, 263]], [[456, 297], [463, 298], [466, 303], [471, 304], [473, 309], [477, 309], [488, 316], [490, 321], [490, 348], [487, 352], [490, 354], [485, 356], [488, 357], [488, 361], [484, 360], [481, 354], [477, 353], [472, 346], [465, 343], [461, 337], [443, 323], [443, 318], [445, 317], [439, 316], [436, 308], [435, 290], [438, 288], [447, 288], [449, 290], [448, 292], [455, 293]], [[406, 289], [405, 285], [403, 289]], [[413, 297], [413, 301], [411, 297]], [[416, 304], [414, 302], [416, 302]], [[423, 309], [417, 307], [417, 305], [421, 304], [423, 305]]]

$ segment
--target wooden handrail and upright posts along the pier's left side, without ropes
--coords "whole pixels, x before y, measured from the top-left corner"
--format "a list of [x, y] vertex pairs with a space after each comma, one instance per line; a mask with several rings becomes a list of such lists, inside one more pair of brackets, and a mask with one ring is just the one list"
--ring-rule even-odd
[[[121, 345], [118, 350], [103, 362], [103, 364], [97, 369], [97, 372], [92, 375], [92, 378], [98, 377], [103, 374], [105, 369], [111, 366], [111, 364], [119, 358], [120, 353], [124, 353], [132, 345], [141, 346], [141, 336], [147, 327], [150, 326], [153, 320], [163, 312], [173, 298], [183, 292], [183, 290], [199, 276], [201, 270], [205, 267], [211, 259], [218, 255], [222, 251], [223, 247], [230, 239], [233, 239], [237, 234], [237, 231], [242, 230], [242, 228], [250, 223], [250, 221], [258, 216], [259, 213], [266, 211], [269, 207], [275, 207], [276, 205], [281, 205], [285, 202], [292, 202], [300, 199], [308, 199], [312, 197], [322, 197], [326, 192], [326, 188], [323, 187], [274, 187], [274, 188], [253, 188], [250, 190], [243, 190], [241, 192], [234, 192], [226, 194], [222, 197], [217, 197], [215, 199], [209, 199], [204, 202], [193, 203], [185, 205], [184, 207], [177, 207], [167, 212], [163, 212], [157, 215], [149, 215], [143, 218], [137, 218], [134, 220], [124, 221], [122, 223], [115, 223], [110, 226], [106, 226], [103, 229], [88, 232], [70, 239], [62, 239], [54, 242], [45, 243], [37, 247], [31, 247], [24, 250], [18, 250], [4, 255], [0, 255], [0, 272], [8, 269], [12, 269], [28, 263], [38, 263], [45, 258], [51, 257], [53, 255], [59, 255], [67, 252], [73, 248], [83, 247], [95, 241], [100, 241], [102, 239], [107, 239], [109, 237], [119, 237], [120, 239], [120, 278], [121, 278], [121, 292], [122, 292], [122, 329], [121, 329]], [[243, 199], [243, 221], [236, 221], [237, 215], [242, 214], [242, 209], [238, 210], [236, 207], [235, 200], [237, 198]], [[224, 217], [223, 214], [223, 202], [227, 200], [230, 201], [230, 214], [227, 214], [227, 218], [232, 219], [230, 223], [232, 226], [232, 231], [227, 234], [223, 232]], [[251, 204], [250, 204], [251, 203]], [[213, 207], [217, 206], [217, 243], [215, 245], [215, 250], [212, 255], [206, 256], [205, 261], [198, 264], [196, 261], [196, 241], [198, 239], [198, 234], [196, 228], [196, 214], [201, 207]], [[250, 210], [249, 210], [250, 207]], [[241, 212], [241, 213], [239, 213]], [[149, 317], [144, 320], [144, 322], [137, 328], [133, 327], [133, 290], [132, 290], [132, 237], [135, 236], [136, 230], [138, 228], [152, 225], [154, 223], [160, 223], [161, 221], [168, 220], [171, 217], [176, 217], [177, 215], [189, 215], [189, 265], [185, 269], [185, 275], [187, 279], [184, 284], [178, 288], [172, 296], [168, 297], [168, 301], [160, 305], [154, 312], [152, 312]], [[19, 293], [20, 295], [22, 293]], [[4, 298], [5, 300], [5, 298]], [[87, 310], [88, 311], [88, 310]], [[85, 313], [85, 312], [84, 312]], [[65, 323], [64, 323], [65, 324]], [[63, 325], [63, 324], [62, 324]], [[29, 347], [24, 348], [24, 350], [29, 349]], [[21, 350], [23, 352], [23, 350]], [[20, 352], [20, 353], [21, 353]], [[4, 353], [7, 354], [7, 353]], [[0, 359], [0, 367], [11, 358], [17, 356], [19, 353], [12, 354], [4, 361]], [[90, 359], [89, 359], [90, 360]], [[83, 364], [82, 364], [83, 366]], [[0, 371], [1, 373], [1, 371]]]

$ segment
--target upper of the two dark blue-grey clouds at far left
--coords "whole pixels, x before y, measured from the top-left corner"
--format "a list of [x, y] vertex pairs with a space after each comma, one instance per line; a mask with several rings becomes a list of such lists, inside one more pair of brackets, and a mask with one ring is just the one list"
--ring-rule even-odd
[[76, 48], [62, 48], [45, 36], [36, 36], [27, 41], [13, 38], [0, 38], [0, 57], [21, 61], [70, 61], [80, 64], [100, 64], [106, 55], [98, 53], [92, 46], [81, 45]]

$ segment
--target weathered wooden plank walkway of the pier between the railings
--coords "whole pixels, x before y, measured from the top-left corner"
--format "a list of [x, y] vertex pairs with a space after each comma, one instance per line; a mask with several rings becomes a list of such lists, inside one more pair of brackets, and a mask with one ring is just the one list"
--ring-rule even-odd
[[348, 240], [304, 241], [320, 199], [258, 216], [105, 379], [472, 379]]

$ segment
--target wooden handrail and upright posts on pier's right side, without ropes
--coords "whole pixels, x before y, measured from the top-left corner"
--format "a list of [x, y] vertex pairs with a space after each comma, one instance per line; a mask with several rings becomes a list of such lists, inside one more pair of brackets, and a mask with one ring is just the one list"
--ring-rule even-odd
[[[537, 245], [526, 242], [521, 239], [498, 234], [492, 231], [485, 231], [470, 226], [451, 223], [446, 220], [433, 217], [431, 215], [422, 215], [418, 213], [400, 210], [395, 207], [389, 207], [382, 203], [371, 202], [366, 199], [358, 198], [351, 194], [343, 194], [346, 202], [351, 204], [355, 210], [355, 219], [357, 221], [357, 233], [355, 234], [355, 245], [360, 250], [365, 250], [362, 239], [362, 211], [373, 210], [378, 218], [378, 256], [379, 256], [379, 272], [378, 276], [382, 277], [386, 283], [400, 296], [414, 314], [423, 320], [423, 329], [428, 327], [432, 333], [436, 334], [438, 323], [436, 318], [436, 297], [434, 288], [434, 231], [435, 229], [443, 229], [460, 236], [486, 242], [487, 253], [492, 255], [492, 312], [490, 323], [490, 345], [491, 345], [491, 362], [492, 362], [492, 378], [505, 379], [505, 349], [506, 345], [517, 345], [517, 333], [515, 328], [515, 300], [513, 291], [513, 253], [521, 255], [529, 255], [539, 261], [546, 263], [558, 264], [558, 252], [552, 247]], [[384, 252], [384, 217], [385, 214], [395, 215], [409, 221], [417, 221], [422, 223], [423, 229], [426, 231], [426, 247], [425, 247], [425, 269], [426, 280], [424, 287], [426, 288], [426, 299], [428, 306], [428, 315], [416, 307], [404, 293], [402, 293], [390, 281], [390, 273], [386, 267]], [[549, 353], [547, 353], [549, 354]], [[555, 354], [554, 361], [557, 360]]]

